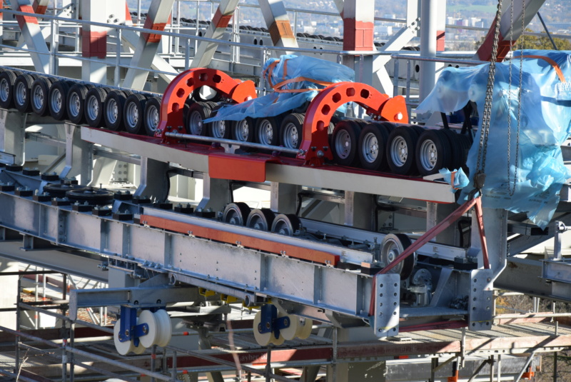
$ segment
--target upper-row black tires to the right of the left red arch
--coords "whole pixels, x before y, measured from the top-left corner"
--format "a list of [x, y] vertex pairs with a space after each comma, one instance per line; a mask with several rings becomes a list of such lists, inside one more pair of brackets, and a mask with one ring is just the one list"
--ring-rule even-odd
[[[299, 149], [304, 113], [204, 124], [218, 107], [213, 102], [191, 104], [186, 113], [188, 134]], [[405, 176], [460, 169], [472, 144], [468, 134], [450, 129], [355, 119], [332, 123], [328, 132], [335, 164]]]

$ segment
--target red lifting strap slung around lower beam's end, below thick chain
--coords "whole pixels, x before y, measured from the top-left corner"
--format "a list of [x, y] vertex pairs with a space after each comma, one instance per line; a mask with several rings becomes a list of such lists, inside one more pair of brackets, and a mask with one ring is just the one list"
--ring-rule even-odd
[[[484, 261], [484, 268], [490, 269], [490, 260], [487, 257], [487, 244], [486, 244], [486, 236], [484, 232], [484, 218], [482, 216], [482, 198], [478, 196], [477, 198], [470, 199], [466, 201], [462, 206], [458, 207], [453, 213], [450, 213], [443, 221], [430, 228], [428, 231], [425, 232], [423, 236], [420, 236], [418, 240], [416, 240], [412, 245], [406, 248], [400, 255], [398, 255], [394, 261], [392, 261], [388, 266], [381, 269], [377, 274], [385, 274], [388, 273], [391, 269], [395, 268], [395, 266], [403, 261], [408, 256], [412, 255], [420, 249], [425, 243], [428, 243], [432, 240], [438, 233], [441, 233], [446, 228], [448, 228], [452, 223], [457, 221], [460, 217], [464, 215], [464, 213], [470, 211], [470, 208], [474, 207], [474, 212], [477, 218], [477, 229], [480, 233], [480, 243], [482, 244], [482, 257]], [[375, 275], [376, 276], [376, 275]], [[373, 316], [375, 314], [375, 295], [376, 295], [376, 283], [373, 283], [373, 291], [370, 293], [370, 305], [369, 305], [369, 316]]]

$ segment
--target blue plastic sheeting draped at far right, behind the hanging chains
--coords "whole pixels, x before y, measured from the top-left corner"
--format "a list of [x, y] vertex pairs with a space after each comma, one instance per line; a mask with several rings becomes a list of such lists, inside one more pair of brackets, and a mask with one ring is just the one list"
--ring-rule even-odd
[[[510, 61], [496, 66], [482, 203], [487, 208], [526, 212], [531, 221], [545, 228], [559, 202], [562, 184], [571, 177], [563, 164], [560, 149], [570, 134], [571, 88], [563, 84], [553, 66], [559, 66], [565, 79], [571, 81], [571, 51], [523, 51], [522, 97], [521, 108], [518, 108], [520, 55], [520, 51], [515, 52], [511, 62], [511, 84]], [[418, 113], [448, 113], [462, 109], [468, 101], [477, 104], [480, 126], [468, 154], [470, 185], [463, 189], [460, 201], [465, 200], [473, 189], [471, 176], [477, 166], [489, 66], [445, 69], [433, 91], [417, 109]], [[510, 195], [514, 179], [515, 192]]]

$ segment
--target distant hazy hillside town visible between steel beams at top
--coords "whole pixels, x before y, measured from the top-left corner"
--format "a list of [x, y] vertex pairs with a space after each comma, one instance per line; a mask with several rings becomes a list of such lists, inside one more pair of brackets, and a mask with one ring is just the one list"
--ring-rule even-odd
[[[257, 4], [256, 0], [242, 0], [241, 4]], [[337, 13], [335, 1], [333, 0], [286, 0], [285, 6], [288, 9], [304, 9], [313, 11], [325, 11]], [[151, 0], [141, 1], [141, 11], [144, 13], [148, 9]], [[198, 10], [196, 8], [198, 4]], [[506, 11], [510, 1], [503, 1], [503, 10]], [[132, 11], [137, 9], [137, 0], [128, 0], [128, 5]], [[197, 11], [199, 19], [211, 19], [213, 9], [211, 4], [206, 2], [183, 1], [180, 3], [181, 17], [196, 19]], [[446, 24], [457, 26], [477, 26], [487, 29], [495, 17], [497, 1], [495, 0], [448, 0], [447, 1]], [[571, 1], [546, 1], [542, 7], [542, 15], [547, 27], [552, 34], [571, 34]], [[375, 0], [375, 16], [384, 19], [405, 19], [406, 1]], [[176, 13], [175, 13], [176, 16]], [[290, 20], [293, 14], [290, 12]], [[257, 8], [242, 6], [240, 9], [241, 25], [266, 26], [261, 11]], [[390, 36], [398, 31], [400, 25], [377, 21], [375, 23], [375, 41], [388, 41]], [[537, 16], [528, 26], [530, 31], [543, 32], [542, 24]], [[325, 16], [318, 14], [297, 14], [296, 32], [307, 34], [320, 34], [324, 36], [342, 36], [343, 21], [339, 16]], [[458, 51], [471, 51], [479, 44], [484, 36], [482, 31], [469, 29], [447, 29], [446, 49]], [[413, 45], [418, 45], [419, 41], [412, 41]]]

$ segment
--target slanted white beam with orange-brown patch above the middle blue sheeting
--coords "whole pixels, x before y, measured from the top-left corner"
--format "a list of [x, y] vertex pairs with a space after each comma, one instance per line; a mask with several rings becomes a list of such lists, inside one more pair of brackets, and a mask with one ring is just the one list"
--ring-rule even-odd
[[[272, 39], [273, 46], [281, 48], [297, 48], [298, 40], [291, 29], [288, 12], [281, 0], [260, 0], [260, 9], [263, 19], [266, 21], [268, 31]], [[288, 54], [285, 51], [285, 54]]]

